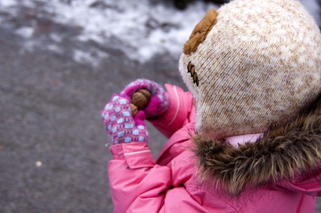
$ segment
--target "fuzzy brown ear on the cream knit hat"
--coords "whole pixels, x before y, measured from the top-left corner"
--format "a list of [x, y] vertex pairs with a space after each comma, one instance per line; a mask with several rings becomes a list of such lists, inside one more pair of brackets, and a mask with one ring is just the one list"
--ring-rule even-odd
[[205, 40], [207, 33], [213, 28], [217, 23], [218, 13], [213, 8], [209, 10], [203, 19], [195, 26], [190, 39], [186, 41], [183, 49], [185, 55], [190, 55], [194, 53], [198, 46]]

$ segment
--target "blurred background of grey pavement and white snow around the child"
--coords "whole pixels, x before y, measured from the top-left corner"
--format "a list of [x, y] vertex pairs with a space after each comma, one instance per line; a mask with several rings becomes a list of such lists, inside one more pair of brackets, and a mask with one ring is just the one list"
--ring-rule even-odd
[[0, 212], [112, 212], [100, 110], [136, 78], [185, 88], [182, 46], [224, 2], [0, 0]]

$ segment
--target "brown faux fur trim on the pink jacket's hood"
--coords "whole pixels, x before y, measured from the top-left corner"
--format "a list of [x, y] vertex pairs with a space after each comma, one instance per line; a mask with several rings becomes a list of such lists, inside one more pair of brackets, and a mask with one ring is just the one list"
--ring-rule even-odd
[[192, 137], [201, 181], [220, 183], [231, 195], [248, 187], [293, 180], [321, 162], [321, 107], [274, 128], [255, 143], [234, 147], [223, 139]]

